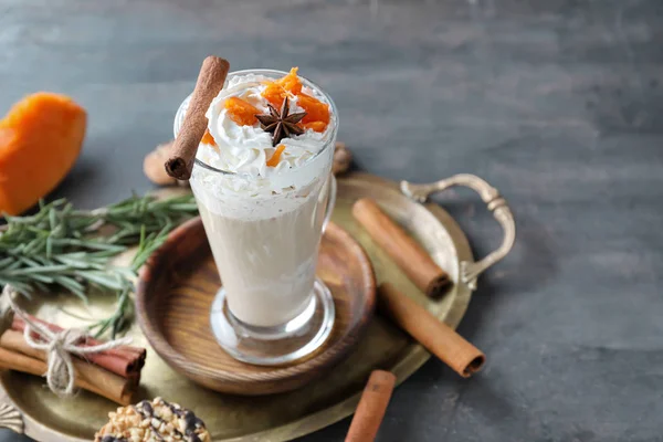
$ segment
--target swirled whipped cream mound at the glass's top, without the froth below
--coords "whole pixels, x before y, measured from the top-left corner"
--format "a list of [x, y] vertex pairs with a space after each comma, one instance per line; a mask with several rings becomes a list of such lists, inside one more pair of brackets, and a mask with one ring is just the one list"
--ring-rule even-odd
[[[272, 135], [263, 130], [259, 123], [253, 126], [240, 126], [234, 123], [228, 115], [224, 103], [227, 98], [234, 96], [255, 106], [263, 114], [269, 114], [267, 101], [261, 96], [269, 80], [276, 78], [246, 74], [234, 76], [227, 83], [206, 114], [209, 120], [208, 129], [217, 143], [217, 148], [201, 144], [198, 159], [218, 169], [239, 172], [245, 177], [270, 178], [301, 167], [324, 148], [334, 133], [336, 124], [334, 115], [330, 116], [329, 125], [323, 133], [307, 129], [302, 135], [282, 139], [278, 144], [284, 145], [285, 149], [278, 165], [267, 166], [267, 160], [276, 150], [272, 146]], [[324, 96], [306, 85], [303, 92], [327, 103]], [[297, 106], [296, 96], [291, 99], [290, 112], [304, 112]]]

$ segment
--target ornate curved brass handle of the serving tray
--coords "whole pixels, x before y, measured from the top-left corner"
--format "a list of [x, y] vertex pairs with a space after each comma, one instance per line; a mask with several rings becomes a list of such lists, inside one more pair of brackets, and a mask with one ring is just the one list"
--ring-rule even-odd
[[488, 185], [485, 180], [475, 175], [459, 173], [453, 177], [431, 182], [428, 185], [413, 185], [408, 181], [401, 181], [401, 191], [409, 198], [425, 202], [432, 193], [440, 192], [454, 186], [464, 186], [476, 191], [481, 199], [488, 206], [488, 210], [493, 212], [493, 217], [499, 222], [504, 230], [502, 245], [483, 260], [477, 262], [461, 262], [461, 278], [472, 290], [476, 290], [476, 278], [486, 269], [502, 260], [512, 250], [516, 240], [516, 222], [514, 215], [508, 208], [506, 200], [499, 196], [497, 189]]

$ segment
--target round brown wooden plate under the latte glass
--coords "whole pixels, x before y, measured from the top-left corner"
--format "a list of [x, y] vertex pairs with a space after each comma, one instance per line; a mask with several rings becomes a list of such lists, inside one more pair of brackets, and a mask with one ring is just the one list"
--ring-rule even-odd
[[221, 349], [210, 329], [210, 308], [221, 282], [197, 218], [175, 230], [143, 267], [136, 293], [138, 323], [168, 365], [207, 388], [245, 396], [291, 391], [340, 361], [373, 313], [370, 261], [361, 245], [333, 222], [323, 235], [317, 274], [336, 304], [334, 330], [324, 347], [285, 367], [240, 362]]

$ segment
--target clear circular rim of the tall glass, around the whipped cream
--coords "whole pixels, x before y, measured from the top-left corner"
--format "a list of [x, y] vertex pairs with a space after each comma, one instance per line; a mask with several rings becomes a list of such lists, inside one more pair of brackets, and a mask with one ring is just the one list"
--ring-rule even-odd
[[[287, 75], [287, 72], [284, 71], [278, 71], [278, 70], [272, 70], [272, 69], [248, 69], [248, 70], [241, 70], [241, 71], [233, 71], [230, 72], [228, 74], [228, 77], [231, 76], [236, 76], [236, 75], [248, 75], [248, 74], [275, 74], [275, 75]], [[327, 101], [327, 103], [329, 104], [330, 110], [332, 110], [332, 115], [334, 115], [334, 127], [332, 128], [332, 133], [329, 134], [329, 139], [325, 143], [325, 145], [323, 146], [323, 148], [320, 150], [318, 150], [317, 152], [315, 152], [315, 155], [313, 155], [311, 158], [308, 158], [304, 164], [302, 164], [301, 166], [298, 166], [297, 168], [302, 168], [302, 167], [306, 167], [308, 164], [313, 162], [316, 158], [318, 158], [320, 155], [323, 155], [324, 152], [326, 152], [329, 149], [329, 146], [335, 145], [335, 140], [336, 140], [336, 134], [338, 133], [338, 112], [336, 108], [336, 104], [334, 103], [334, 99], [332, 99], [332, 97], [320, 87], [318, 86], [316, 83], [312, 82], [311, 80], [298, 75], [298, 77], [302, 80], [302, 83], [305, 86], [308, 86], [311, 88], [313, 88], [314, 91], [316, 91], [318, 94], [320, 94], [322, 96], [325, 97], [325, 99]], [[180, 114], [182, 114], [185, 112], [183, 107], [185, 105], [188, 106], [190, 99], [191, 99], [191, 95], [193, 95], [193, 93], [190, 93], [189, 95], [187, 95], [187, 97], [180, 103], [176, 114], [175, 114], [175, 128], [177, 130], [179, 130], [181, 128], [177, 127], [178, 120], [180, 119]], [[175, 130], [173, 130], [175, 131]], [[217, 173], [221, 173], [221, 175], [227, 175], [227, 176], [240, 176], [240, 177], [250, 177], [252, 179], [261, 179], [264, 177], [252, 177], [249, 173], [245, 172], [233, 172], [230, 170], [223, 170], [223, 169], [219, 169], [214, 166], [208, 165], [207, 162], [198, 159], [198, 157], [194, 157], [194, 165], [202, 167], [203, 169], [217, 172]], [[287, 175], [292, 169], [286, 169], [283, 171], [277, 172], [277, 175]]]

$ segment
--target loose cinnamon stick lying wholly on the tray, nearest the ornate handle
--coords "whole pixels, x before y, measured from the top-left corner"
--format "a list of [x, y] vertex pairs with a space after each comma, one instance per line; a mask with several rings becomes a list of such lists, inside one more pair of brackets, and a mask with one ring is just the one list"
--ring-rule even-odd
[[446, 272], [372, 200], [355, 202], [352, 215], [427, 296], [439, 297], [451, 285]]

